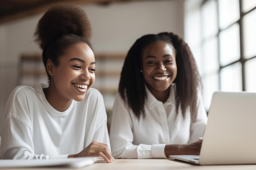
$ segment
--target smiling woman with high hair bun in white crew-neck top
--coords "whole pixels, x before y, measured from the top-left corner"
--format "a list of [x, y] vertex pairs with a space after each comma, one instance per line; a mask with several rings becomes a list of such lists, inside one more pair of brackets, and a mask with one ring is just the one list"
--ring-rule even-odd
[[2, 159], [113, 161], [103, 97], [91, 88], [96, 67], [91, 34], [85, 12], [70, 4], [50, 8], [39, 20], [34, 35], [49, 84], [11, 92], [0, 130]]

